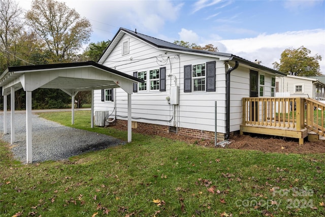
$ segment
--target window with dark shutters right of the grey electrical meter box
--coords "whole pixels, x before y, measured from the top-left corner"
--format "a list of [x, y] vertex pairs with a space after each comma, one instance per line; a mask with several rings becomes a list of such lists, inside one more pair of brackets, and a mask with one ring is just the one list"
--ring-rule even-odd
[[184, 66], [184, 92], [216, 90], [216, 61]]

